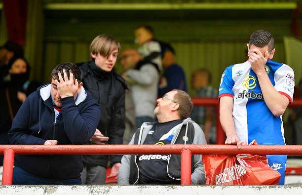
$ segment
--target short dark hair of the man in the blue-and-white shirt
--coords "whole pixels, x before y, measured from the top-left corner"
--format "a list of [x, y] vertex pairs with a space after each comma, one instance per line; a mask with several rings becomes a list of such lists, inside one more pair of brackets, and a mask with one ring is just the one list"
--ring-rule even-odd
[[257, 47], [265, 47], [268, 45], [268, 50], [271, 51], [274, 48], [274, 37], [270, 32], [258, 30], [251, 34], [249, 45], [255, 45]]

